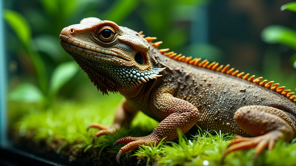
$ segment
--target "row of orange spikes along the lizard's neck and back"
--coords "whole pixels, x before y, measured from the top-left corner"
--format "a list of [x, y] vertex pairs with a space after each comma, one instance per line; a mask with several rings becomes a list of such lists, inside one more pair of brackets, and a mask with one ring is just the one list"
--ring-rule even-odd
[[[141, 33], [141, 34], [140, 34]], [[139, 32], [140, 35], [142, 35], [142, 31]], [[144, 35], [142, 35], [144, 37]], [[157, 38], [156, 37], [146, 37], [145, 38], [149, 43], [156, 40]], [[160, 44], [162, 44], [163, 42], [162, 41], [159, 41], [159, 42], [156, 42], [156, 43], [151, 43], [155, 48], [158, 48], [158, 46]], [[278, 87], [279, 86], [279, 83], [274, 83], [274, 81], [269, 81], [267, 82], [267, 79], [264, 79], [262, 82], [261, 80], [263, 79], [263, 77], [258, 77], [258, 78], [255, 78], [255, 75], [252, 75], [251, 77], [249, 77], [250, 73], [247, 73], [244, 75], [244, 72], [240, 72], [239, 73], [239, 70], [234, 70], [234, 68], [231, 68], [229, 69], [229, 64], [224, 66], [224, 65], [220, 65], [219, 66], [219, 63], [218, 62], [213, 62], [213, 63], [210, 63], [207, 59], [201, 61], [201, 58], [194, 58], [192, 59], [191, 56], [189, 57], [186, 57], [186, 56], [182, 56], [182, 54], [178, 54], [171, 51], [171, 52], [168, 52], [170, 49], [169, 48], [165, 48], [165, 49], [159, 49], [158, 51], [170, 58], [173, 58], [173, 59], [176, 59], [177, 61], [181, 61], [181, 62], [185, 62], [187, 64], [191, 64], [191, 65], [194, 65], [194, 66], [199, 66], [199, 67], [203, 67], [205, 69], [210, 69], [210, 70], [214, 70], [214, 71], [219, 71], [219, 72], [222, 72], [222, 73], [225, 73], [225, 74], [229, 74], [229, 75], [233, 75], [235, 77], [239, 77], [239, 78], [242, 78], [244, 80], [247, 80], [247, 81], [250, 81], [250, 82], [253, 82], [255, 84], [258, 84], [262, 87], [266, 87], [268, 89], [271, 89], [285, 97], [288, 97], [291, 101], [294, 101], [296, 102], [296, 95], [293, 95], [295, 92], [290, 92], [291, 89], [287, 89], [287, 90], [284, 90], [285, 87], [284, 86], [281, 86], [281, 87]], [[255, 79], [254, 79], [255, 78]], [[296, 90], [296, 89], [295, 89]]]

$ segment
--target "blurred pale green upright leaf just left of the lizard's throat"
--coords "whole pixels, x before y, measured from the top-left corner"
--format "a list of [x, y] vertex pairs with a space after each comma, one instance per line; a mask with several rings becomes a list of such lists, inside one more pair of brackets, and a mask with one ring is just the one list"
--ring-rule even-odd
[[65, 83], [74, 77], [77, 71], [78, 65], [75, 61], [65, 62], [57, 66], [52, 73], [49, 93], [55, 95]]

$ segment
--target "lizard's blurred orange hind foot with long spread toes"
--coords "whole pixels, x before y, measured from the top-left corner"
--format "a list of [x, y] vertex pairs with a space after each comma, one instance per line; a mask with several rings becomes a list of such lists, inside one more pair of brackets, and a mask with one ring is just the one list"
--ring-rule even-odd
[[262, 136], [256, 137], [243, 137], [237, 135], [235, 136], [234, 140], [229, 143], [226, 152], [223, 154], [223, 158], [230, 152], [256, 147], [254, 154], [254, 161], [256, 161], [258, 155], [263, 152], [264, 149], [273, 149], [276, 141], [278, 141], [279, 138], [283, 136], [284, 134], [281, 131], [271, 131]]

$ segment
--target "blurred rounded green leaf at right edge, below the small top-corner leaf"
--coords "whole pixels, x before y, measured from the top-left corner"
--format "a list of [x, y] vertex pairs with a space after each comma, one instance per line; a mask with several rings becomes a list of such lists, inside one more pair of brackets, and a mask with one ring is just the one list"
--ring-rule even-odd
[[272, 25], [261, 33], [262, 40], [266, 43], [281, 43], [296, 50], [296, 32], [280, 25]]

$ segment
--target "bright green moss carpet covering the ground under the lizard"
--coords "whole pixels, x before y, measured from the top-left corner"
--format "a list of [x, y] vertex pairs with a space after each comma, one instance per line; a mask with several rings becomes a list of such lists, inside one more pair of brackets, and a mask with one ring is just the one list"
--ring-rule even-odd
[[[53, 138], [65, 140], [67, 144], [87, 149], [108, 147], [124, 136], [146, 136], [150, 134], [158, 122], [139, 112], [130, 127], [122, 128], [113, 135], [105, 135], [92, 144], [97, 129], [86, 131], [90, 123], [111, 125], [113, 116], [120, 102], [121, 95], [99, 96], [85, 102], [59, 100], [51, 108], [40, 110], [37, 106], [22, 107], [18, 104], [10, 108], [11, 126], [21, 136], [34, 135], [36, 141], [46, 139], [49, 143]], [[23, 110], [22, 110], [23, 109]], [[26, 111], [25, 111], [26, 109]], [[15, 112], [17, 111], [17, 113]], [[21, 113], [18, 114], [18, 113]], [[13, 123], [12, 123], [13, 122]], [[158, 144], [156, 147], [141, 146], [133, 151], [133, 155], [147, 157], [147, 165], [223, 165], [222, 154], [228, 142], [234, 138], [231, 134], [197, 133], [194, 136], [179, 136], [175, 142]], [[277, 143], [272, 151], [260, 155], [257, 165], [296, 165], [296, 139], [292, 143]], [[57, 153], [67, 144], [61, 145]], [[120, 146], [111, 150], [117, 153]], [[230, 153], [224, 165], [254, 165], [254, 149]]]

